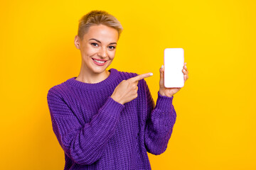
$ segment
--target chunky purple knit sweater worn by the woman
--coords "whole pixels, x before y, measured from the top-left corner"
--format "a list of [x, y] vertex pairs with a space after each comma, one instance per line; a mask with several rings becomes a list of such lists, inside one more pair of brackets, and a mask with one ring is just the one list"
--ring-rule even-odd
[[151, 154], [166, 150], [176, 111], [174, 96], [161, 96], [156, 106], [144, 79], [138, 97], [124, 103], [110, 96], [124, 79], [138, 74], [110, 69], [97, 84], [70, 78], [48, 91], [55, 133], [65, 152], [64, 169], [151, 169]]

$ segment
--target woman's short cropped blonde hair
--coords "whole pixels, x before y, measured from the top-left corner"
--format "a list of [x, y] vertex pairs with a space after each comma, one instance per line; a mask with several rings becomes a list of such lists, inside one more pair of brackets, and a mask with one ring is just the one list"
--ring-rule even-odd
[[110, 13], [100, 10], [90, 11], [89, 13], [85, 14], [85, 16], [80, 18], [78, 24], [78, 37], [82, 40], [90, 26], [97, 26], [100, 24], [116, 29], [118, 31], [119, 39], [119, 36], [123, 30], [121, 23]]

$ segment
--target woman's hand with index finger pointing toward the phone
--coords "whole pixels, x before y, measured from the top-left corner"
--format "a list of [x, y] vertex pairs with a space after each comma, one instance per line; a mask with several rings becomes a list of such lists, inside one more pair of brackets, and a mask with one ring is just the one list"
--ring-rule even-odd
[[141, 79], [144, 79], [146, 77], [151, 77], [152, 73], [145, 73], [140, 74], [137, 77], [132, 77], [127, 80], [121, 81], [116, 88], [114, 89], [114, 92], [111, 96], [114, 101], [117, 101], [118, 103], [124, 104], [129, 101], [132, 101], [134, 98], [137, 98], [138, 94], [138, 82]]

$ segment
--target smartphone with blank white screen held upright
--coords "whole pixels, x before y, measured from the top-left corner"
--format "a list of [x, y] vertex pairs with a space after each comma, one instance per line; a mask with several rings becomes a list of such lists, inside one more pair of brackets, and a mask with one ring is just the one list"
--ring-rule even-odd
[[164, 86], [166, 88], [184, 86], [183, 65], [183, 48], [164, 49]]

